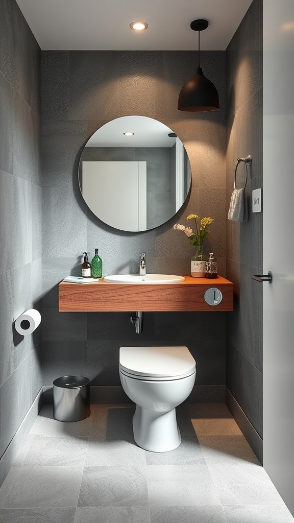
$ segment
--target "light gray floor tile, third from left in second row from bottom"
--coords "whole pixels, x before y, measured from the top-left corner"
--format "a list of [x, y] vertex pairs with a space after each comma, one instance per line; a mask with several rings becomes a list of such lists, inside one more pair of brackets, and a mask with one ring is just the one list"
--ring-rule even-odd
[[147, 467], [150, 505], [220, 505], [206, 465]]

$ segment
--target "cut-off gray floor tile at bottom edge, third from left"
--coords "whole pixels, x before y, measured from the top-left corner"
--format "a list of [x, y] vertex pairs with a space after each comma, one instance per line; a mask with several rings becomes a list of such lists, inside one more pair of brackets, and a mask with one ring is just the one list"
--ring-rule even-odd
[[220, 506], [195, 507], [150, 507], [151, 523], [227, 523]]

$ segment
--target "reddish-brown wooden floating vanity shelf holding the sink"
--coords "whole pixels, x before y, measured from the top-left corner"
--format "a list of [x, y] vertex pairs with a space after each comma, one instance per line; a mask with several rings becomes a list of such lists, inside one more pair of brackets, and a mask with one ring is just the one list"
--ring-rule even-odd
[[[216, 287], [222, 301], [215, 306], [204, 299], [207, 289]], [[164, 312], [232, 311], [233, 283], [221, 276], [215, 279], [192, 278], [178, 283], [59, 283], [60, 312]]]

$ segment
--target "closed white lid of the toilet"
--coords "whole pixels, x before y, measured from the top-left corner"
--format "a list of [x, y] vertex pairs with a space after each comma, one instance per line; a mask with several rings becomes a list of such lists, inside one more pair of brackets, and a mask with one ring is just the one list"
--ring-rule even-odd
[[120, 347], [119, 367], [138, 379], [179, 379], [193, 374], [196, 362], [187, 347]]

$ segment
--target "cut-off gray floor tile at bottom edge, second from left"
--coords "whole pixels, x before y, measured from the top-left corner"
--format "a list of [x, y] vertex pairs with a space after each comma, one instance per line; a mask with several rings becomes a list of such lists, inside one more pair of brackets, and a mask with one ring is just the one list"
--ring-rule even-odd
[[77, 507], [74, 523], [150, 523], [147, 507]]

